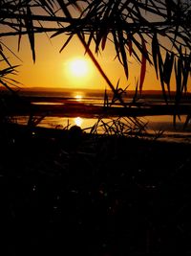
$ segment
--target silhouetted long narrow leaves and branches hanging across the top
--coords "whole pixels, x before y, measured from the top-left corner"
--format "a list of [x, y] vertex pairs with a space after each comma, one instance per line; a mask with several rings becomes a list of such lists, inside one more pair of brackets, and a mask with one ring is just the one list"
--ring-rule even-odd
[[[188, 90], [191, 72], [190, 12], [190, 1], [180, 0], [4, 0], [1, 1], [0, 25], [6, 29], [0, 33], [0, 39], [17, 35], [20, 49], [21, 38], [27, 35], [35, 62], [36, 34], [46, 33], [51, 38], [68, 35], [60, 52], [77, 35], [85, 53], [93, 60], [117, 101], [126, 106], [118, 84], [113, 84], [95, 57], [105, 50], [110, 40], [114, 43], [116, 58], [123, 66], [127, 81], [129, 58], [135, 58], [140, 64], [136, 94], [138, 90], [140, 94], [142, 92], [147, 63], [150, 63], [154, 65], [164, 100], [168, 104], [174, 73], [175, 105], [178, 107], [181, 96]], [[3, 52], [5, 45], [2, 40], [1, 58], [10, 66]], [[91, 50], [93, 46], [95, 52]]]

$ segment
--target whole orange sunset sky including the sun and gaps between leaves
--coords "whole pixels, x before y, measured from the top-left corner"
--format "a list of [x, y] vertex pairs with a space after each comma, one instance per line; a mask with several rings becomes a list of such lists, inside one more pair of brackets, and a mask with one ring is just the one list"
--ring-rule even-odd
[[[34, 13], [44, 15], [44, 12], [41, 9], [35, 10]], [[76, 12], [75, 9], [71, 9], [71, 13], [73, 14], [73, 17], [79, 16], [79, 12]], [[60, 15], [63, 15], [63, 13]], [[157, 18], [156, 15], [153, 15], [150, 12], [146, 15], [148, 21], [153, 21], [154, 18]], [[158, 21], [158, 19], [156, 20]], [[51, 27], [47, 21], [45, 21], [44, 24], [48, 24]], [[11, 30], [9, 27], [7, 27], [7, 29]], [[6, 25], [0, 27], [0, 31], [7, 32]], [[51, 34], [49, 34], [49, 36], [51, 37]], [[149, 36], [147, 36], [146, 39], [148, 39], [148, 37]], [[22, 82], [23, 87], [68, 87], [90, 89], [105, 89], [105, 87], [108, 87], [106, 81], [104, 81], [96, 70], [91, 58], [89, 58], [88, 55], [84, 56], [85, 50], [77, 36], [74, 36], [67, 47], [59, 53], [59, 50], [66, 42], [67, 38], [67, 35], [62, 34], [56, 35], [52, 39], [48, 38], [45, 34], [35, 35], [36, 61], [33, 63], [31, 45], [27, 35], [22, 36], [19, 53], [17, 52], [17, 36], [1, 37], [2, 42], [5, 42], [5, 45], [7, 45], [13, 53], [16, 53], [20, 59], [22, 59], [21, 61], [20, 59], [13, 57], [11, 53], [5, 53], [6, 56], [9, 56], [12, 64], [20, 65], [18, 68], [18, 76], [14, 79]], [[162, 37], [160, 43], [165, 45], [166, 41], [166, 38]], [[168, 48], [171, 49], [171, 46], [172, 45]], [[146, 47], [147, 49], [149, 48], [149, 43]], [[134, 50], [136, 51], [135, 48]], [[95, 53], [94, 45], [91, 45], [91, 50]], [[128, 89], [130, 90], [135, 89], [140, 75], [140, 63], [138, 63], [134, 58], [128, 57], [128, 81], [126, 80], [123, 67], [116, 58], [115, 47], [109, 39], [107, 39], [104, 51], [101, 51], [96, 58], [103, 71], [115, 87], [119, 80], [119, 87], [125, 88], [128, 86]], [[141, 57], [139, 56], [139, 58]], [[151, 66], [148, 61], [146, 77], [143, 85], [143, 90], [144, 89], [160, 90], [160, 84], [156, 78], [154, 66]], [[175, 89], [175, 79], [172, 77], [171, 90]]]

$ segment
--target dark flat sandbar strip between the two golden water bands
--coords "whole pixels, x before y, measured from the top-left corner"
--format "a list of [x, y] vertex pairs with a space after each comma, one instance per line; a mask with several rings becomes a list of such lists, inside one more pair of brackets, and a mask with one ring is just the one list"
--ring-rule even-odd
[[[72, 99], [72, 98], [71, 98]], [[37, 101], [37, 102], [36, 102]], [[32, 103], [32, 105], [30, 105]], [[83, 104], [74, 100], [46, 98], [40, 99], [24, 98], [23, 103], [18, 105], [9, 103], [8, 108], [10, 114], [34, 114], [40, 115], [47, 113], [49, 116], [78, 116], [91, 117], [92, 116], [158, 116], [158, 115], [188, 115], [191, 113], [191, 105], [158, 105], [158, 104], [127, 104], [122, 106], [100, 106]], [[13, 107], [12, 107], [13, 106]]]

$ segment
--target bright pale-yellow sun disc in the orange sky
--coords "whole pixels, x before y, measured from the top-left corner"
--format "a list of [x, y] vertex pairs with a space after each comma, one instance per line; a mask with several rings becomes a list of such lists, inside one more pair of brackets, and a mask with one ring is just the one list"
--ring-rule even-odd
[[89, 73], [88, 61], [83, 58], [74, 58], [69, 62], [69, 72], [76, 78], [86, 77]]

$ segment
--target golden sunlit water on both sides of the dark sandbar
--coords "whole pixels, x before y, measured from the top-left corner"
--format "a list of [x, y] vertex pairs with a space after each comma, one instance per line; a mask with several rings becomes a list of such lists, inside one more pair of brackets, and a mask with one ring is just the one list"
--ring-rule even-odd
[[[127, 92], [124, 96], [124, 101], [131, 103], [135, 92]], [[28, 88], [21, 89], [18, 94], [22, 97], [29, 97], [32, 99], [32, 105], [64, 105], [70, 103], [71, 105], [77, 103], [82, 105], [97, 105], [103, 106], [105, 102], [105, 95], [107, 94], [109, 102], [113, 95], [110, 91], [105, 90], [90, 90], [90, 89], [71, 89], [71, 88]], [[184, 99], [183, 104], [191, 105], [191, 97]], [[164, 100], [159, 91], [144, 91], [141, 96], [138, 96], [138, 104], [140, 105], [164, 105]], [[115, 106], [120, 106], [117, 102]], [[36, 117], [37, 119], [38, 117]], [[28, 116], [17, 115], [13, 117], [14, 122], [22, 125], [27, 125], [29, 122]], [[187, 119], [187, 125], [185, 121]], [[191, 143], [191, 119], [187, 115], [176, 117], [176, 126], [173, 122], [173, 115], [152, 115], [141, 116], [136, 119], [139, 124], [144, 127], [142, 136], [146, 138], [158, 138], [168, 142], [177, 143]], [[130, 131], [138, 131], [135, 125], [134, 118], [128, 117], [99, 117], [99, 116], [45, 116], [42, 120], [36, 122], [37, 127], [43, 128], [59, 128], [66, 129], [78, 126], [84, 132], [97, 133], [115, 133], [128, 134]]]

